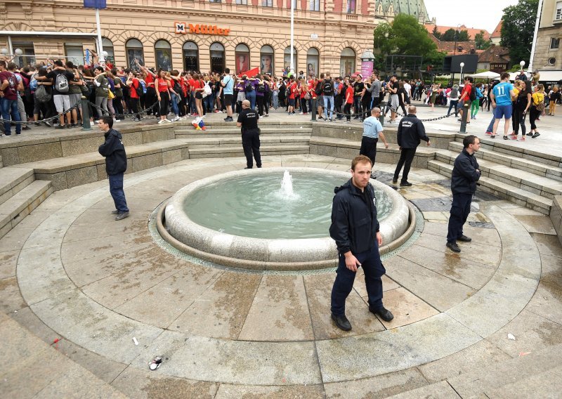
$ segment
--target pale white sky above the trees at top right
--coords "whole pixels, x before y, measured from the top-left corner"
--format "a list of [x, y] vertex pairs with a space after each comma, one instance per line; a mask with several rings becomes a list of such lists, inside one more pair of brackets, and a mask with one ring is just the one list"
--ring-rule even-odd
[[492, 33], [502, 19], [502, 10], [514, 6], [518, 0], [424, 0], [424, 3], [429, 18], [435, 17], [437, 25], [456, 27], [460, 24]]

